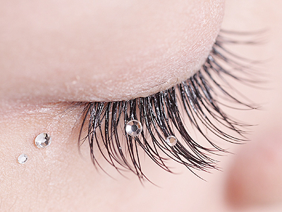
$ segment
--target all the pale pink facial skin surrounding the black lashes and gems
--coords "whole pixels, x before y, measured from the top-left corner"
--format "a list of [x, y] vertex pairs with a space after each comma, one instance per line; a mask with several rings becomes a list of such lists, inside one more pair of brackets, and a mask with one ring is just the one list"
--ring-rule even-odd
[[[223, 17], [220, 0], [1, 1], [0, 211], [281, 211], [280, 8], [278, 0], [226, 1]], [[235, 155], [217, 158], [223, 171], [202, 173], [207, 182], [145, 157], [144, 172], [159, 187], [106, 162], [114, 179], [97, 171], [89, 147], [78, 152], [81, 109], [66, 113], [69, 102], [128, 100], [176, 85], [202, 65], [222, 21], [230, 30], [271, 28], [260, 51], [243, 54], [274, 57], [265, 65], [274, 89], [244, 90], [270, 103], [263, 112], [232, 111], [259, 124], [252, 141], [223, 143]], [[45, 131], [51, 145], [36, 148]]]

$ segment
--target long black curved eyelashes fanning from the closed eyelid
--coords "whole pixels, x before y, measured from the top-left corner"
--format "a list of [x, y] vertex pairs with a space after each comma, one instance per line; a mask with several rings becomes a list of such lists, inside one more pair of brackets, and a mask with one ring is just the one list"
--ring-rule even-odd
[[[250, 75], [246, 69], [252, 63], [229, 52], [226, 43], [240, 42], [219, 35], [202, 69], [168, 90], [128, 101], [84, 103], [79, 142], [80, 145], [84, 141], [89, 142], [94, 165], [100, 166], [94, 153], [94, 149], [98, 149], [118, 172], [130, 170], [140, 179], [147, 179], [142, 171], [140, 151], [144, 151], [154, 163], [168, 172], [172, 172], [166, 165], [168, 158], [185, 165], [193, 173], [194, 170], [217, 168], [217, 161], [210, 158], [211, 153], [226, 151], [214, 143], [207, 131], [231, 143], [245, 141], [244, 125], [221, 110], [222, 105], [225, 105], [223, 102], [235, 102], [253, 108], [233, 97], [225, 88], [230, 85], [226, 77], [247, 83], [236, 73]], [[192, 138], [183, 121], [184, 116], [188, 117], [192, 128], [197, 129], [209, 147], [200, 145]], [[140, 136], [133, 137], [125, 133], [125, 124], [132, 119], [142, 123]], [[85, 127], [87, 135], [82, 137]], [[238, 136], [227, 134], [223, 129], [231, 129]], [[175, 146], [168, 146], [166, 137], [172, 135], [176, 136], [178, 142]]]

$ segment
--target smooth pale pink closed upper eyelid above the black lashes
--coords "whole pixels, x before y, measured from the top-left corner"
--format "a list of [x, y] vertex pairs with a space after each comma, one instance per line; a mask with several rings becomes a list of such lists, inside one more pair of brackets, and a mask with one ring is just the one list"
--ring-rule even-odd
[[1, 1], [1, 100], [147, 96], [195, 73], [223, 0]]

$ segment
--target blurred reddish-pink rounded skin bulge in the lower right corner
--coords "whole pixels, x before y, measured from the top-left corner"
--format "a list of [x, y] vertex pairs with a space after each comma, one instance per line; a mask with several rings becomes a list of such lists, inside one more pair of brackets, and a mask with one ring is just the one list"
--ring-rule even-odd
[[282, 201], [282, 133], [276, 126], [264, 131], [238, 153], [226, 183], [231, 206], [247, 207]]

